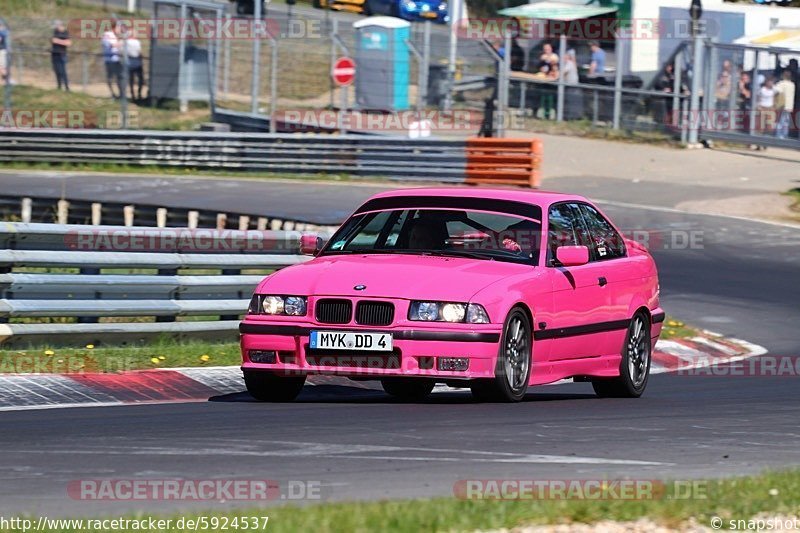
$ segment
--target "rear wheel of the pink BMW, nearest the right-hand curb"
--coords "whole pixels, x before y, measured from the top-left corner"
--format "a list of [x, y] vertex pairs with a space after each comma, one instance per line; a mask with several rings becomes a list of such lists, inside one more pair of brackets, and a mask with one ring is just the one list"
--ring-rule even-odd
[[641, 396], [650, 378], [651, 344], [650, 319], [644, 313], [636, 313], [622, 345], [619, 377], [592, 381], [594, 392], [601, 398]]

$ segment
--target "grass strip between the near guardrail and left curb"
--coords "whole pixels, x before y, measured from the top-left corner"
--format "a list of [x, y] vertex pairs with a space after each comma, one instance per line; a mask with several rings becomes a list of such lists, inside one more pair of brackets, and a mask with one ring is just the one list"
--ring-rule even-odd
[[[235, 338], [236, 334], [231, 334]], [[205, 357], [204, 357], [205, 356]], [[146, 345], [39, 347], [0, 350], [0, 373], [120, 372], [185, 366], [232, 366], [241, 363], [237, 342], [175, 342]]]

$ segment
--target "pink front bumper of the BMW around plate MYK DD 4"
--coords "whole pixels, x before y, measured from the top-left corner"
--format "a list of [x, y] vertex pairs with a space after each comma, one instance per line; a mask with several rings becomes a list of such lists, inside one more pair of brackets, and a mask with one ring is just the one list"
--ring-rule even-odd
[[[435, 377], [438, 379], [491, 378], [495, 374], [501, 337], [499, 324], [472, 327], [361, 327], [321, 326], [302, 322], [241, 323], [242, 369], [262, 370], [284, 375], [331, 374], [380, 379], [387, 376]], [[316, 331], [391, 333], [392, 352], [312, 350], [309, 336]], [[254, 362], [251, 352], [262, 359], [274, 352], [274, 362]], [[463, 370], [440, 369], [447, 359], [466, 359]], [[442, 360], [442, 361], [440, 361]]]

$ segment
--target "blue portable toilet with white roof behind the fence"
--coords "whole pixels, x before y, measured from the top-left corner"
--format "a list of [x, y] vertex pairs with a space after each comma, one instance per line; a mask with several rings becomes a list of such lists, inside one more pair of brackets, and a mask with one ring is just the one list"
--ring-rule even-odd
[[411, 24], [396, 17], [368, 17], [353, 24], [353, 28], [357, 107], [405, 111], [409, 108]]

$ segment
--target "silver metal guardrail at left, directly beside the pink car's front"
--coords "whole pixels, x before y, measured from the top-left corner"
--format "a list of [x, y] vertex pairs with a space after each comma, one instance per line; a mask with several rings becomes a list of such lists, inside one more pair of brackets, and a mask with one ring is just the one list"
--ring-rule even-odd
[[264, 274], [308, 259], [301, 235], [2, 223], [0, 345], [233, 339]]

